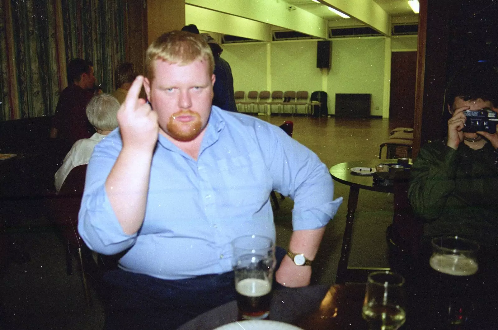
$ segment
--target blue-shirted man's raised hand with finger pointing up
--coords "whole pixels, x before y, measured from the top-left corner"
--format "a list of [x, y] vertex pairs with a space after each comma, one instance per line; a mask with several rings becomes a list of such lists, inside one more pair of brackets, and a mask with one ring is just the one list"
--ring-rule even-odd
[[143, 76], [137, 76], [131, 84], [118, 111], [118, 124], [123, 149], [152, 151], [157, 142], [159, 124], [157, 113], [152, 111], [144, 99], [138, 98], [142, 83]]

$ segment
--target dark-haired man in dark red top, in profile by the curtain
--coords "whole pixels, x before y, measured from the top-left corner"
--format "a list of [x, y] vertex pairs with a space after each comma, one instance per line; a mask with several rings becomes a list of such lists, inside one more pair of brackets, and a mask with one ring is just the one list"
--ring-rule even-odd
[[50, 138], [63, 140], [69, 150], [76, 141], [90, 138], [95, 133], [85, 113], [88, 102], [94, 96], [95, 76], [92, 63], [81, 58], [69, 62], [67, 73], [69, 85], [60, 94], [52, 118]]

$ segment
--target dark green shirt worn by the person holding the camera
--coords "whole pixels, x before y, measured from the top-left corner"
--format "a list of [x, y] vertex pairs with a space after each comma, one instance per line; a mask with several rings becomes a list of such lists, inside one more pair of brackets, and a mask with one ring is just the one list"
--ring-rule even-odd
[[426, 220], [424, 239], [459, 235], [498, 246], [498, 169], [490, 143], [480, 150], [446, 139], [426, 144], [411, 167], [408, 197]]

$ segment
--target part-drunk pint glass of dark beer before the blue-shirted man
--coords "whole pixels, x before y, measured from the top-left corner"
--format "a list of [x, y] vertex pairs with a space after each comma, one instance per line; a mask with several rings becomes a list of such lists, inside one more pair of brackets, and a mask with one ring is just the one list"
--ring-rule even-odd
[[232, 241], [239, 317], [267, 319], [275, 270], [275, 246], [264, 236], [241, 236]]

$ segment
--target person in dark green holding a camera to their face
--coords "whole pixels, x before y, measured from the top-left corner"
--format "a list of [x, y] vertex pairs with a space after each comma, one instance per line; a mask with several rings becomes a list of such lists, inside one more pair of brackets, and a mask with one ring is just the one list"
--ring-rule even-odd
[[424, 220], [423, 241], [458, 235], [498, 250], [498, 134], [486, 118], [498, 112], [495, 76], [474, 72], [450, 81], [447, 136], [423, 146], [411, 167], [408, 197]]

